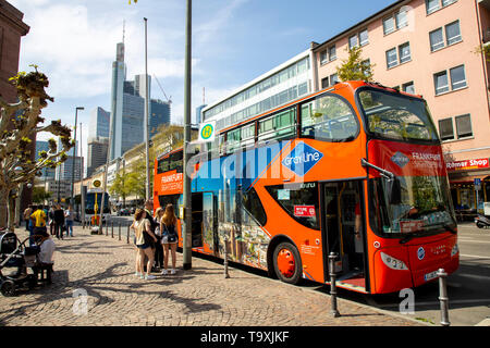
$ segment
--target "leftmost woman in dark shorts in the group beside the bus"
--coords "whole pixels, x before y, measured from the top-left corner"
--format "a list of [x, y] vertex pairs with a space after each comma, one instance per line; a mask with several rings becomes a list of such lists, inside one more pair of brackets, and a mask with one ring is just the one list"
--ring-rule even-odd
[[[151, 265], [154, 264], [154, 250], [151, 249], [151, 245], [158, 239], [151, 232], [150, 222], [146, 219], [146, 211], [143, 209], [136, 210], [131, 228], [134, 229], [137, 248], [135, 275], [139, 276], [142, 279], [155, 279], [156, 276], [149, 274], [151, 272]], [[148, 258], [146, 275], [143, 273], [145, 256]]]

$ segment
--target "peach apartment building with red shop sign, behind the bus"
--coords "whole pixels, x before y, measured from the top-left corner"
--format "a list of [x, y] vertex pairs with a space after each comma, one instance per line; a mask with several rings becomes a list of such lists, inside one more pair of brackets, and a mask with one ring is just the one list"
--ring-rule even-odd
[[490, 0], [401, 0], [353, 27], [311, 44], [315, 89], [332, 86], [348, 47], [360, 46], [373, 79], [421, 95], [442, 139], [456, 208], [490, 201]]

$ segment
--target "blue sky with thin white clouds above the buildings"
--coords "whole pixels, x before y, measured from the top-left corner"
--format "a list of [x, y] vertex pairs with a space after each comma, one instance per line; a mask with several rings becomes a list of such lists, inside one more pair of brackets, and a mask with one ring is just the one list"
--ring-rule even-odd
[[[54, 97], [47, 120], [82, 122], [83, 153], [89, 115], [110, 111], [111, 65], [125, 21], [127, 79], [143, 74], [144, 17], [148, 18], [148, 73], [172, 99], [172, 122], [184, 112], [184, 0], [8, 0], [30, 26], [22, 38], [20, 71], [39, 65]], [[192, 115], [274, 66], [395, 2], [395, 0], [194, 0]], [[151, 98], [163, 99], [152, 82]], [[79, 132], [77, 138], [79, 136]], [[40, 138], [44, 138], [40, 136]], [[142, 139], [143, 141], [143, 139]]]

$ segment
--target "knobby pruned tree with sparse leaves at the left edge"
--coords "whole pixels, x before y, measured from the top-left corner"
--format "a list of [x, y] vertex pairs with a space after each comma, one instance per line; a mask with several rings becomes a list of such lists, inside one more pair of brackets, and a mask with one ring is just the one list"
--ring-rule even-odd
[[[52, 121], [44, 126], [41, 109], [48, 105], [49, 97], [45, 88], [49, 82], [37, 71], [21, 72], [10, 78], [17, 89], [19, 102], [8, 103], [0, 97], [0, 227], [14, 229], [15, 198], [22, 184], [33, 182], [42, 167], [57, 167], [66, 160], [66, 151], [74, 146], [69, 127], [61, 121]], [[48, 132], [60, 137], [62, 148], [49, 139], [49, 150], [39, 152], [39, 160], [30, 158], [30, 139], [39, 132]]]

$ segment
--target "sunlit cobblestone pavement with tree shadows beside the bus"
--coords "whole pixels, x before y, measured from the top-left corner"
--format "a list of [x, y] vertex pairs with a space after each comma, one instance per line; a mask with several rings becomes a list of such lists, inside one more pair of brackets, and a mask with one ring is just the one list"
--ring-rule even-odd
[[[16, 297], [0, 295], [0, 326], [422, 325], [342, 299], [342, 316], [333, 319], [328, 295], [233, 268], [225, 279], [222, 264], [200, 258], [193, 258], [189, 271], [181, 266], [175, 275], [144, 281], [134, 275], [135, 248], [124, 237], [119, 241], [89, 235], [81, 227], [75, 227], [74, 235], [54, 239], [52, 285]], [[182, 265], [180, 252], [177, 265]]]

